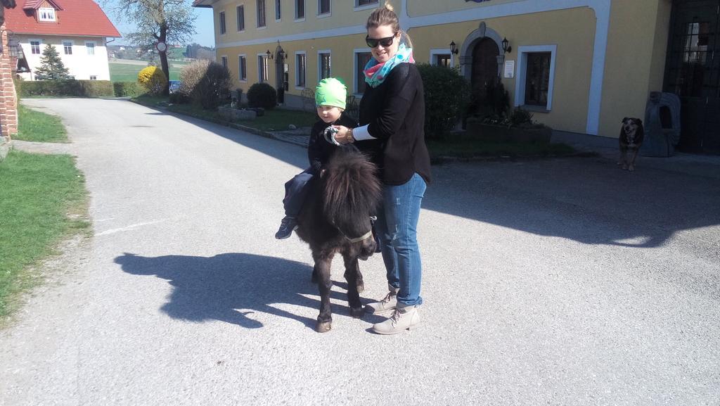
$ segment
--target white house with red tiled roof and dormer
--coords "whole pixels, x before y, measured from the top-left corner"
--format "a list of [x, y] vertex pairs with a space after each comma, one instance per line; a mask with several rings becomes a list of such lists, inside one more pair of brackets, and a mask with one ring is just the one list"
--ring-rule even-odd
[[120, 32], [98, 4], [93, 0], [22, 1], [5, 11], [5, 19], [30, 68], [19, 73], [23, 79], [35, 79], [42, 50], [50, 44], [74, 79], [110, 80], [106, 39], [120, 37]]

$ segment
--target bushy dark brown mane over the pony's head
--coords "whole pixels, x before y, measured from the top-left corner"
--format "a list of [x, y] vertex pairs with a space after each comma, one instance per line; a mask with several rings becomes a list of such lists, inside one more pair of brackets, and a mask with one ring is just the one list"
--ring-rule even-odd
[[338, 149], [323, 176], [323, 209], [329, 219], [374, 213], [382, 187], [377, 167], [358, 151]]

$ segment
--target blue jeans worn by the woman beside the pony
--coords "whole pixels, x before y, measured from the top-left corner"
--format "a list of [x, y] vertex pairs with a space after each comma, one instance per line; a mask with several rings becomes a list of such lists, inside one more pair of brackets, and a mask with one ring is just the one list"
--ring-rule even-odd
[[423, 304], [418, 219], [426, 187], [425, 180], [417, 173], [403, 185], [382, 187], [382, 207], [375, 226], [382, 245], [387, 284], [400, 288], [397, 293], [400, 306]]

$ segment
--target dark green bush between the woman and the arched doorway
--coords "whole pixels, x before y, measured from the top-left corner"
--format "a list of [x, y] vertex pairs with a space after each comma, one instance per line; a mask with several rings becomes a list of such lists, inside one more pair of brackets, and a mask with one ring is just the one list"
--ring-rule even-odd
[[425, 88], [425, 136], [442, 138], [462, 118], [469, 102], [469, 85], [456, 69], [419, 63]]

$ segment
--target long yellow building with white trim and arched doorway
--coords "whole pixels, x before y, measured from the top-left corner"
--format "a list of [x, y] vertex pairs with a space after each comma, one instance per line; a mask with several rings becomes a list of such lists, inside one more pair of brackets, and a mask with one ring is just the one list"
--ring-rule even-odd
[[[720, 0], [393, 0], [418, 62], [500, 77], [511, 105], [556, 131], [618, 136], [649, 92], [678, 94], [688, 150], [720, 151]], [[195, 0], [212, 7], [235, 87], [285, 87], [284, 104], [336, 76], [361, 97], [365, 22], [379, 0]], [[503, 40], [507, 40], [503, 44]], [[451, 46], [452, 45], [452, 46]], [[720, 53], [719, 53], [720, 55]]]

